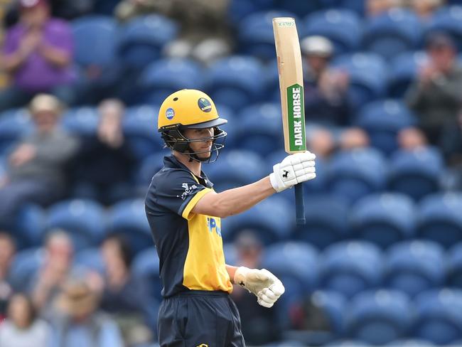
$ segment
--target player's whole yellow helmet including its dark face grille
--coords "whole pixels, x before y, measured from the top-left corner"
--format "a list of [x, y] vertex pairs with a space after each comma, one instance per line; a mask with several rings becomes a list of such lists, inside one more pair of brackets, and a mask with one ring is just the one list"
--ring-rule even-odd
[[[226, 132], [219, 128], [227, 120], [218, 116], [217, 108], [212, 99], [194, 89], [183, 89], [174, 92], [163, 100], [157, 119], [157, 130], [161, 132], [166, 146], [186, 154], [190, 160], [215, 161], [220, 149], [225, 146]], [[188, 139], [183, 135], [184, 129], [213, 128], [213, 136], [204, 139]], [[213, 149], [208, 158], [200, 158], [189, 144], [191, 142], [213, 141]], [[215, 154], [213, 157], [212, 154]]]

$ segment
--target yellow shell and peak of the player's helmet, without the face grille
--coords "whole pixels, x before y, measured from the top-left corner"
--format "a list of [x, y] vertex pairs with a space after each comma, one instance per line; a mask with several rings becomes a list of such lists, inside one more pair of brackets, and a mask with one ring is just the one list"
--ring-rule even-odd
[[218, 116], [217, 108], [212, 99], [195, 89], [183, 89], [174, 92], [163, 100], [157, 129], [163, 132], [176, 127], [210, 128], [227, 123]]

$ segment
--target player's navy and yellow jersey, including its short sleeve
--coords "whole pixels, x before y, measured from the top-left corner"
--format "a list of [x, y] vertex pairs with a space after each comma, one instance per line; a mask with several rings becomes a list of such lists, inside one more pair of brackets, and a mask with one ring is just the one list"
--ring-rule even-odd
[[195, 176], [173, 155], [164, 157], [163, 164], [145, 201], [160, 259], [163, 297], [190, 290], [231, 292], [220, 218], [191, 212], [213, 190], [213, 183], [203, 173]]

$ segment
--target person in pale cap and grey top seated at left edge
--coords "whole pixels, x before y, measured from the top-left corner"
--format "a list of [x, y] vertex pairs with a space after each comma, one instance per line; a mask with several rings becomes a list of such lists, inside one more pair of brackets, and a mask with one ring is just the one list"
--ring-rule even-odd
[[37, 95], [30, 105], [36, 130], [9, 156], [6, 178], [0, 182], [0, 220], [12, 218], [23, 203], [47, 205], [65, 192], [65, 164], [77, 140], [58, 129], [60, 102]]

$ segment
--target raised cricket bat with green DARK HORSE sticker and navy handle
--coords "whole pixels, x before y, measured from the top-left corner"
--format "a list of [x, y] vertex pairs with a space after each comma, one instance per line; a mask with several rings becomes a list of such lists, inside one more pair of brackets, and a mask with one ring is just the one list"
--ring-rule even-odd
[[[289, 17], [273, 18], [273, 31], [281, 91], [284, 149], [286, 153], [294, 154], [306, 151], [303, 70], [299, 34], [295, 19]], [[305, 224], [302, 183], [295, 186], [295, 210], [297, 225]]]

